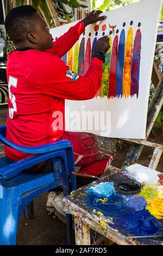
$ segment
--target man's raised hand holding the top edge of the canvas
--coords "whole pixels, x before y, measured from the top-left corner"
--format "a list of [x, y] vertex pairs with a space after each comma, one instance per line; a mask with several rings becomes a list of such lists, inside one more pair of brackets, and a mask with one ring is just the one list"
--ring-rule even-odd
[[106, 16], [99, 17], [99, 14], [101, 13], [103, 12], [98, 10], [91, 11], [91, 13], [82, 20], [84, 26], [86, 27], [87, 25], [93, 24], [97, 21], [105, 20]]

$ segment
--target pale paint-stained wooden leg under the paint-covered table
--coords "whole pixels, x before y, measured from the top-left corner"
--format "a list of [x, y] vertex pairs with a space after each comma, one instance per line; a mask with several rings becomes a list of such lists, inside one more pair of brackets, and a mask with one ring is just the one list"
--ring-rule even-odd
[[74, 217], [74, 228], [76, 245], [91, 245], [89, 226], [83, 224], [79, 218]]

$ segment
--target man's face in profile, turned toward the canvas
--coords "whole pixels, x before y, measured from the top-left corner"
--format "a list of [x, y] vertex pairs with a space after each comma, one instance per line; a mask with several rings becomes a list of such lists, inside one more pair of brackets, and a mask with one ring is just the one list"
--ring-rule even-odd
[[37, 40], [37, 46], [39, 50], [45, 51], [49, 48], [52, 48], [53, 38], [52, 35], [49, 33], [49, 29], [47, 28], [45, 21], [37, 13], [35, 13], [34, 16], [34, 34]]

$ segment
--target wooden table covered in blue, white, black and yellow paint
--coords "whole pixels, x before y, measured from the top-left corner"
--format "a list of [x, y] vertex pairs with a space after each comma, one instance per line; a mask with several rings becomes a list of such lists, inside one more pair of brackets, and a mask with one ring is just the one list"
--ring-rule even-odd
[[160, 179], [161, 173], [134, 164], [65, 197], [65, 211], [74, 216], [76, 245], [91, 244], [90, 229], [118, 245], [163, 245]]

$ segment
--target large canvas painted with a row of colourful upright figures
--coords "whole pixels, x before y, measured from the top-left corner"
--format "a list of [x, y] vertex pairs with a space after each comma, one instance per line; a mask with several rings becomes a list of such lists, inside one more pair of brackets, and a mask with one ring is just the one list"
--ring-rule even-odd
[[[105, 137], [145, 138], [160, 10], [161, 0], [143, 0], [111, 10], [105, 13], [106, 20], [87, 26], [78, 42], [62, 57], [71, 70], [84, 75], [97, 39], [109, 36], [110, 49], [103, 64], [101, 87], [91, 100], [66, 100], [66, 130]], [[51, 29], [53, 38], [57, 39], [76, 23]]]

